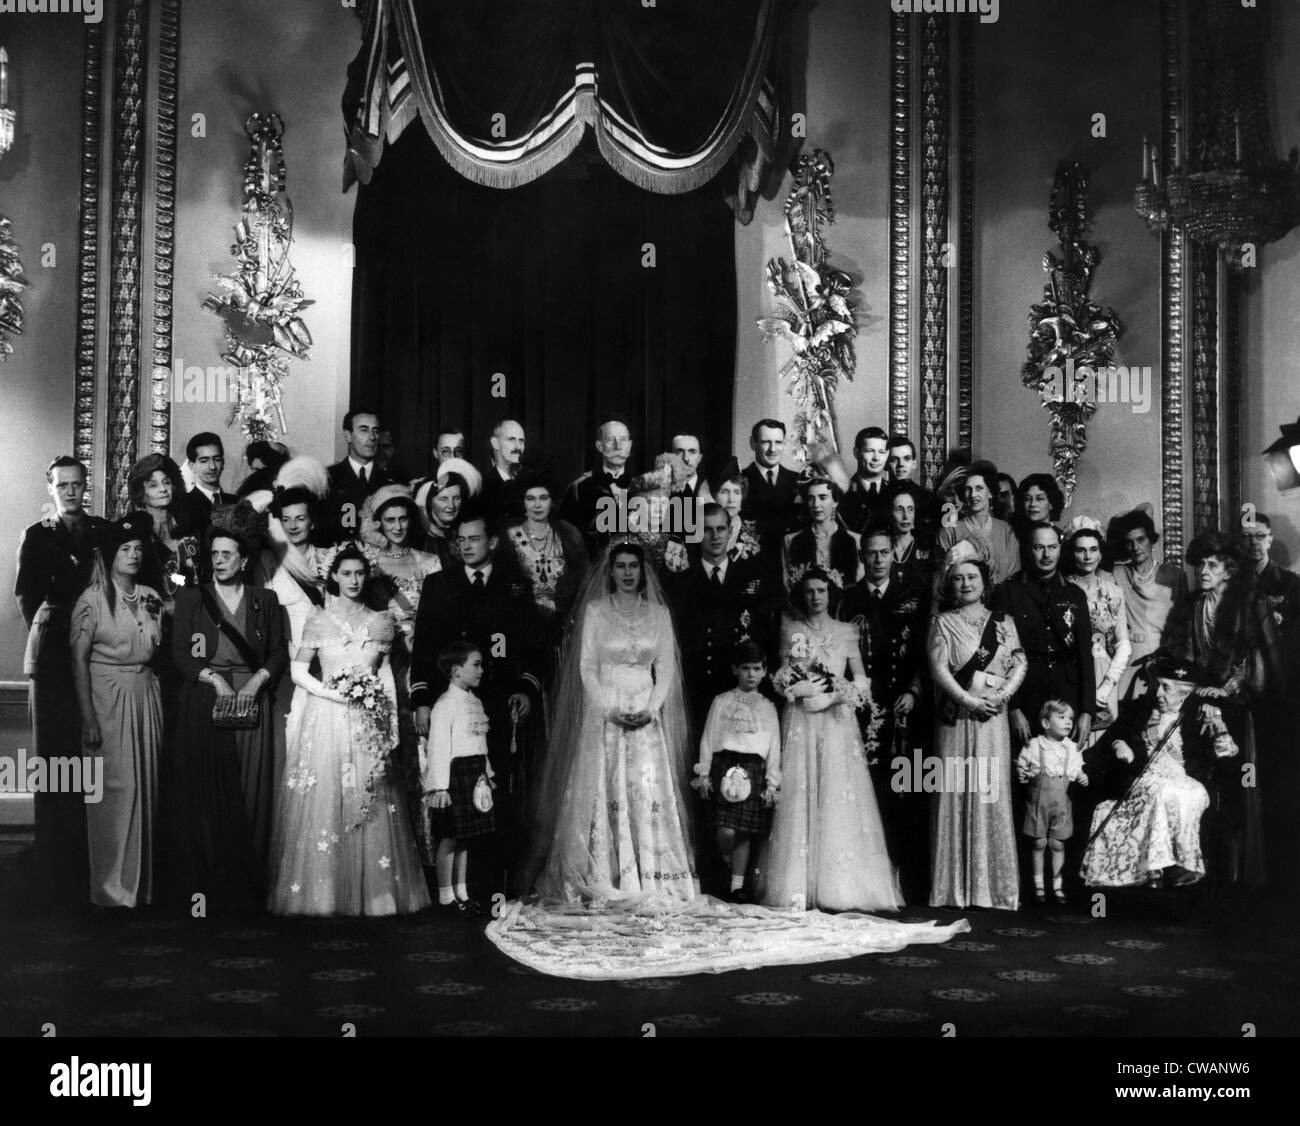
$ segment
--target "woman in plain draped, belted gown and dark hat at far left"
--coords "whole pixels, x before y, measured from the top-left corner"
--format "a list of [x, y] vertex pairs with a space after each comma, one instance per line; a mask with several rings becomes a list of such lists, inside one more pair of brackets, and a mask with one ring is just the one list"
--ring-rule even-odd
[[150, 662], [162, 636], [162, 601], [135, 581], [151, 530], [144, 512], [109, 525], [91, 585], [73, 607], [82, 746], [103, 763], [99, 800], [86, 804], [90, 901], [100, 908], [140, 906], [153, 896], [162, 701]]

